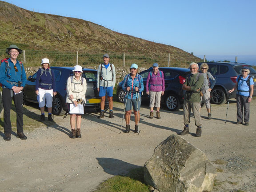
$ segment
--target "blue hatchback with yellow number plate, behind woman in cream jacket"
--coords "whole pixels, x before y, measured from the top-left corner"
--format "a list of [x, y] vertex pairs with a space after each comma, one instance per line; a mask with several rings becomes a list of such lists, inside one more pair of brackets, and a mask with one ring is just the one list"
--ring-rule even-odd
[[[68, 107], [66, 105], [66, 85], [68, 77], [73, 75], [72, 67], [50, 67], [55, 75], [57, 95], [53, 99], [52, 113], [54, 115], [64, 115]], [[37, 72], [36, 72], [37, 73]], [[24, 87], [24, 103], [33, 102], [38, 103], [36, 99], [36, 73], [28, 77], [27, 84]], [[85, 93], [86, 108], [95, 108], [97, 112], [100, 112], [100, 96], [96, 87], [97, 82], [97, 70], [90, 68], [83, 68], [83, 75], [86, 79], [87, 90]], [[105, 108], [108, 108], [108, 101], [106, 100]]]

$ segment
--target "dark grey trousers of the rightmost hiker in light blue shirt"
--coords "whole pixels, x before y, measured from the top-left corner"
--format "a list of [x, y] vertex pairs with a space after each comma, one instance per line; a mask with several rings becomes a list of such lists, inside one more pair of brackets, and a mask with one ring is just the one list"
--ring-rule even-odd
[[248, 96], [241, 96], [236, 94], [236, 119], [238, 122], [243, 122], [243, 110], [244, 110], [244, 123], [249, 122], [250, 118], [250, 103], [248, 102]]

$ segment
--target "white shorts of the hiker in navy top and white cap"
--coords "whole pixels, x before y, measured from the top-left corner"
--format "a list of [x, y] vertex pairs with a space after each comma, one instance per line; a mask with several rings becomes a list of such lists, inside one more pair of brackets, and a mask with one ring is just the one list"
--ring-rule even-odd
[[42, 108], [45, 106], [51, 108], [52, 107], [52, 89], [38, 89], [37, 101], [39, 103], [39, 107]]

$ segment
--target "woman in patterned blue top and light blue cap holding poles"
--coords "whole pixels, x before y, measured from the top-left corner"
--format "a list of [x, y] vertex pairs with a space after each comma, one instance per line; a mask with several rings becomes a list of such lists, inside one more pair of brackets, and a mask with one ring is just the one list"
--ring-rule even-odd
[[[144, 90], [143, 79], [138, 72], [138, 65], [132, 64], [130, 67], [130, 74], [124, 77], [124, 83], [122, 88], [126, 91], [126, 96], [124, 98], [125, 103], [125, 122], [126, 129], [125, 132], [130, 132], [130, 120], [133, 113], [135, 116], [135, 132], [139, 132], [139, 121], [140, 121], [140, 104], [141, 104], [141, 92]], [[137, 106], [138, 104], [138, 106]]]

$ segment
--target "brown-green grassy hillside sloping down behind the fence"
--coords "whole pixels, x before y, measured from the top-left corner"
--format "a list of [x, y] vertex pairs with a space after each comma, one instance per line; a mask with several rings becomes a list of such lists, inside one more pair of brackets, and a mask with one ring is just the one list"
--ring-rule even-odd
[[86, 20], [28, 11], [4, 1], [0, 1], [0, 30], [0, 49], [17, 44], [23, 49], [170, 53], [182, 60], [200, 60], [173, 46], [124, 35]]

